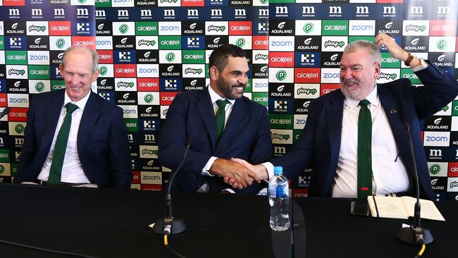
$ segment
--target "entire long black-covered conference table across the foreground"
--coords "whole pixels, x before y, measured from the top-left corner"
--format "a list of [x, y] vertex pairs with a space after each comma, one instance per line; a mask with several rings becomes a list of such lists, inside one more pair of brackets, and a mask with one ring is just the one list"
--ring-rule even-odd
[[[0, 184], [0, 257], [178, 257], [149, 224], [164, 216], [163, 192]], [[402, 219], [350, 214], [350, 200], [292, 198], [290, 231], [271, 231], [266, 196], [173, 193], [185, 232], [169, 245], [184, 257], [414, 257], [395, 237]], [[458, 202], [438, 202], [446, 221], [422, 220], [435, 241], [423, 257], [455, 257]]]

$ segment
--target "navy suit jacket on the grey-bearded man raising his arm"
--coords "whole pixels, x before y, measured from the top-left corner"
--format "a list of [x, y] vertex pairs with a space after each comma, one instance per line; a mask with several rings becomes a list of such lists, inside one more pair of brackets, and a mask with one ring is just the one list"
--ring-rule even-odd
[[[410, 80], [400, 79], [378, 85], [377, 91], [412, 184], [414, 168], [404, 130], [404, 123], [409, 123], [421, 196], [433, 199], [419, 120], [450, 103], [458, 94], [458, 85], [450, 75], [428, 64], [428, 68], [416, 72], [424, 86], [415, 87]], [[311, 196], [331, 195], [340, 152], [344, 100], [342, 92], [335, 90], [311, 102], [306, 125], [296, 145], [272, 162], [274, 166], [283, 166], [288, 178], [304, 173], [304, 168], [314, 168], [309, 184]]]

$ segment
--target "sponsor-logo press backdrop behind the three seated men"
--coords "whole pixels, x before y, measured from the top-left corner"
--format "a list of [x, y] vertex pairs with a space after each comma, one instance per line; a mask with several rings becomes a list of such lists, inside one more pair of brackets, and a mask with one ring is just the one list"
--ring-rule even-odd
[[[157, 142], [178, 92], [209, 83], [208, 57], [221, 44], [247, 51], [245, 95], [269, 110], [273, 152], [285, 154], [307, 119], [309, 102], [339, 87], [342, 51], [379, 32], [458, 80], [457, 1], [441, 0], [3, 0], [0, 1], [0, 179], [15, 176], [34, 94], [57, 90], [63, 50], [99, 52], [92, 90], [124, 111], [132, 188], [162, 190], [170, 171]], [[378, 82], [411, 69], [383, 49]], [[1, 115], [0, 115], [1, 116]], [[422, 124], [437, 199], [458, 199], [458, 100]], [[309, 173], [292, 178], [307, 196]]]

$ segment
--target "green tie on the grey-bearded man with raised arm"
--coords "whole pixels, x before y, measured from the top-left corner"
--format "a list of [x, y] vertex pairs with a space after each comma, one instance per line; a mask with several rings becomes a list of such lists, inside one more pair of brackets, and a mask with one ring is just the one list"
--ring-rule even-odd
[[372, 195], [372, 118], [367, 105], [369, 100], [359, 102], [358, 116], [358, 198]]

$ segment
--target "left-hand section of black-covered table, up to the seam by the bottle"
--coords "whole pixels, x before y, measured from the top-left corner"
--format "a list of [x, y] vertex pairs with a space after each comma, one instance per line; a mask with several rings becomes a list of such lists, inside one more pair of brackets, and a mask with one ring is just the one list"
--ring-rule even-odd
[[[94, 257], [176, 257], [147, 227], [163, 218], [162, 192], [0, 184], [0, 195], [0, 240]], [[185, 257], [287, 257], [291, 232], [271, 231], [269, 211], [265, 196], [174, 194], [187, 231], [168, 243]], [[0, 257], [68, 256], [1, 243]]]

